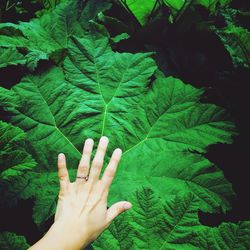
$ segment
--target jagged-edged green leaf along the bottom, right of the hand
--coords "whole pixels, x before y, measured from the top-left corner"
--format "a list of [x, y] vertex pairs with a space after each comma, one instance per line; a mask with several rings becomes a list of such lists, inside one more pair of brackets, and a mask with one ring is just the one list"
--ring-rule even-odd
[[143, 187], [130, 201], [133, 207], [94, 241], [95, 250], [249, 249], [250, 222], [204, 226], [198, 218], [199, 201], [191, 193], [164, 202]]

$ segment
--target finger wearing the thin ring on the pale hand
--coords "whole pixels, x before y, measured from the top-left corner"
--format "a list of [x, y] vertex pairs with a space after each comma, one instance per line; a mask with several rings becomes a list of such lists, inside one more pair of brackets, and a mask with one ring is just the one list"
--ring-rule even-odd
[[[88, 138], [84, 143], [82, 158], [80, 160], [78, 170], [77, 170], [77, 176], [82, 177], [82, 176], [88, 175], [89, 167], [90, 167], [89, 162], [90, 162], [93, 146], [94, 146], [94, 140], [91, 138]], [[77, 186], [85, 182], [86, 182], [85, 179], [76, 178]]]

